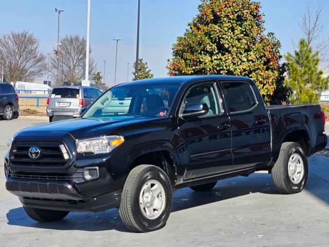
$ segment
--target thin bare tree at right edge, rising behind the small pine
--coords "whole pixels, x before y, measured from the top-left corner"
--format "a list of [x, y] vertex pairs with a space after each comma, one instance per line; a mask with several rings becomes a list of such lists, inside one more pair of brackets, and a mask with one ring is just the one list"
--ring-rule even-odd
[[301, 22], [299, 24], [303, 33], [303, 37], [308, 45], [314, 51], [319, 51], [321, 64], [328, 67], [329, 62], [329, 39], [323, 38], [324, 23], [321, 21], [322, 7], [316, 10], [311, 9], [309, 3], [305, 7], [305, 11], [301, 13]]

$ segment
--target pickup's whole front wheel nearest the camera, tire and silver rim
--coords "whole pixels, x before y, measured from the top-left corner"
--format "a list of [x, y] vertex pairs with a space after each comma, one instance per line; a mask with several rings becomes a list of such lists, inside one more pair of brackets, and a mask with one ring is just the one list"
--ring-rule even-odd
[[166, 225], [173, 201], [167, 174], [153, 165], [129, 173], [121, 194], [120, 217], [134, 232], [151, 232]]

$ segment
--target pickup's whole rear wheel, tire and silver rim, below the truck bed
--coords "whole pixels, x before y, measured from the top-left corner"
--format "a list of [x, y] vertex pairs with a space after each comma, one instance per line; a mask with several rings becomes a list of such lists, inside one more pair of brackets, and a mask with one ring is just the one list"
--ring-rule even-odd
[[273, 182], [281, 193], [302, 191], [308, 174], [307, 156], [303, 148], [298, 143], [283, 143], [271, 173]]

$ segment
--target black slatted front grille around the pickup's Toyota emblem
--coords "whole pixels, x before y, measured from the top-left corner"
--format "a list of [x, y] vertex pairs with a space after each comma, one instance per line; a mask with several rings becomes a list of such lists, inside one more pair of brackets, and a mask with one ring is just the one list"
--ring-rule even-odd
[[[32, 146], [41, 150], [38, 159], [28, 155], [28, 150]], [[10, 165], [15, 166], [63, 167], [68, 160], [68, 152], [58, 140], [14, 140], [9, 153]]]

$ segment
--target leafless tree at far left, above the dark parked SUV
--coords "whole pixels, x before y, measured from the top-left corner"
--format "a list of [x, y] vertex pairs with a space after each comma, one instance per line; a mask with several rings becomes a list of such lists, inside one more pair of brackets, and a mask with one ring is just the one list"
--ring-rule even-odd
[[29, 81], [45, 69], [45, 56], [39, 40], [28, 31], [10, 32], [0, 37], [0, 59], [7, 81]]

